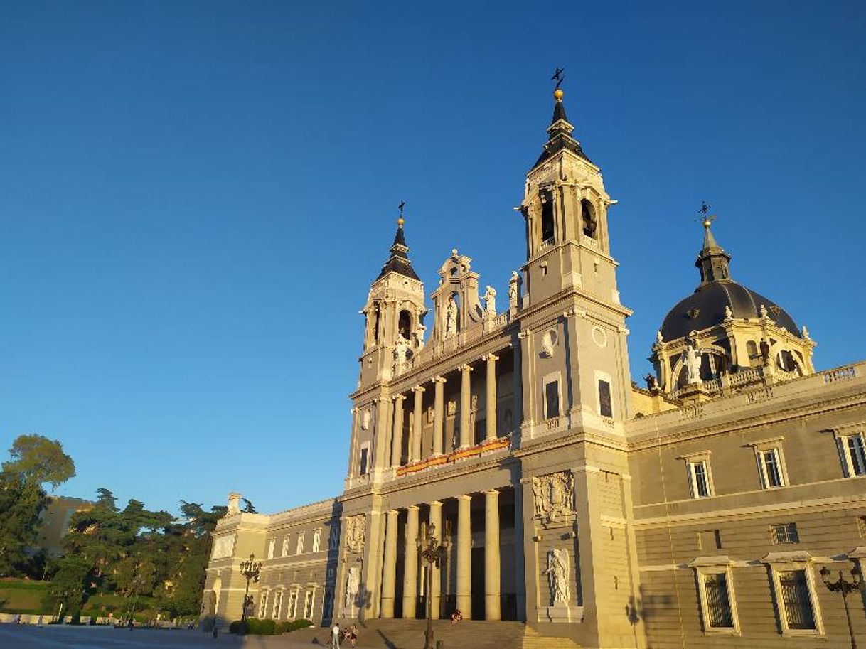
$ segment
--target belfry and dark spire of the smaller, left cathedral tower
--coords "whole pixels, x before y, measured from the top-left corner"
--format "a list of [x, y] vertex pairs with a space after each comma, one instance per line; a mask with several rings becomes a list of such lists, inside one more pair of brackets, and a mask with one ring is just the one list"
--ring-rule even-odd
[[364, 353], [361, 355], [359, 389], [387, 382], [411, 367], [424, 344], [424, 286], [407, 254], [403, 209], [391, 257], [370, 287], [365, 316]]

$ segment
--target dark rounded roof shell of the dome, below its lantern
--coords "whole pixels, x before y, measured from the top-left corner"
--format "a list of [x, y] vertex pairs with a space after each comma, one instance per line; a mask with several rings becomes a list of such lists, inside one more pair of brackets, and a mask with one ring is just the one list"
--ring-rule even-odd
[[719, 280], [702, 284], [668, 312], [662, 322], [662, 339], [674, 340], [688, 336], [689, 331], [722, 324], [726, 306], [731, 308], [734, 318], [760, 318], [761, 305], [766, 306], [767, 315], [776, 324], [795, 336], [800, 335], [794, 319], [772, 299], [733, 280]]

